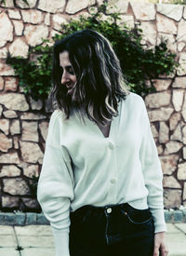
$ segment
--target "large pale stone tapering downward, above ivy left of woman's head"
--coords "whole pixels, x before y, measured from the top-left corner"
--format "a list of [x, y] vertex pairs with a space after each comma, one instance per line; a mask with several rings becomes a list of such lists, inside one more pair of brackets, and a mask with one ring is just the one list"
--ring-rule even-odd
[[24, 35], [28, 44], [34, 47], [42, 43], [42, 38], [46, 39], [48, 28], [45, 25], [27, 25], [24, 30]]

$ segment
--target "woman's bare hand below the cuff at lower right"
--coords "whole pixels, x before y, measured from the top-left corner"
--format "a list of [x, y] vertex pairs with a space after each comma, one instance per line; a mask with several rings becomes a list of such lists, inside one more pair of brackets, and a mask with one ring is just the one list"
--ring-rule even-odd
[[154, 235], [153, 256], [166, 256], [168, 249], [166, 246], [165, 232], [159, 232]]

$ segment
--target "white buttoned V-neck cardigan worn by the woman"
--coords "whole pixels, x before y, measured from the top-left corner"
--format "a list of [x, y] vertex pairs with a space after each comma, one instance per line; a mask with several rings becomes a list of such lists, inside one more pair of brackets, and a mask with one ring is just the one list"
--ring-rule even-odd
[[74, 112], [51, 115], [37, 198], [53, 230], [58, 256], [68, 256], [69, 213], [84, 205], [129, 203], [150, 208], [155, 233], [166, 231], [163, 173], [147, 110], [130, 92], [119, 102], [108, 138]]

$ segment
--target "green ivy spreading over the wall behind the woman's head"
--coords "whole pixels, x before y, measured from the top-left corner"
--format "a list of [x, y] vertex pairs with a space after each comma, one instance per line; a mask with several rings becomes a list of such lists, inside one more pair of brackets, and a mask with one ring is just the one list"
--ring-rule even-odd
[[[142, 31], [137, 25], [133, 29], [128, 29], [125, 24], [119, 25], [120, 14], [107, 15], [107, 8], [108, 5], [104, 4], [97, 12], [92, 9], [87, 18], [80, 16], [79, 20], [63, 24], [61, 34], [56, 34], [53, 42], [86, 28], [96, 30], [112, 43], [131, 91], [141, 96], [153, 92], [154, 78], [175, 73], [178, 67], [176, 54], [167, 48], [166, 41], [153, 48], [141, 46]], [[107, 15], [108, 20], [103, 20], [102, 15]], [[51, 88], [52, 47], [47, 42], [44, 40], [45, 44], [31, 48], [27, 60], [7, 57], [7, 63], [13, 66], [20, 77], [20, 86], [35, 100], [45, 100]], [[37, 56], [36, 61], [31, 58], [34, 54]]]

